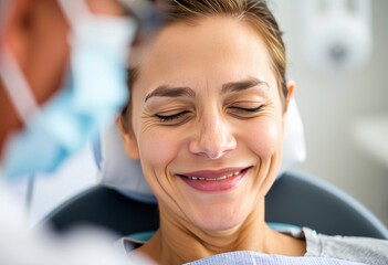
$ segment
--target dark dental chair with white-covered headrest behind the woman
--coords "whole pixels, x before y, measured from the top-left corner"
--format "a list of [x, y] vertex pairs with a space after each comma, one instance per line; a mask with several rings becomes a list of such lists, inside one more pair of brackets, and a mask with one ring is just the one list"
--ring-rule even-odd
[[[294, 102], [287, 115], [280, 174], [265, 198], [265, 220], [275, 224], [307, 226], [328, 235], [388, 240], [385, 225], [344, 191], [315, 176], [290, 170], [305, 159], [303, 126]], [[102, 226], [119, 236], [155, 231], [158, 206], [143, 178], [138, 161], [127, 158], [115, 127], [96, 141], [99, 186], [72, 198], [50, 213], [57, 232], [82, 224]]]

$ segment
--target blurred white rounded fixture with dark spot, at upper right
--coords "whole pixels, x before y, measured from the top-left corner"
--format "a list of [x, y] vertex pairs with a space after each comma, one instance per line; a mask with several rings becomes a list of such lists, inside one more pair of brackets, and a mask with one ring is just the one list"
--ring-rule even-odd
[[304, 0], [303, 52], [324, 72], [363, 66], [371, 55], [370, 0]]

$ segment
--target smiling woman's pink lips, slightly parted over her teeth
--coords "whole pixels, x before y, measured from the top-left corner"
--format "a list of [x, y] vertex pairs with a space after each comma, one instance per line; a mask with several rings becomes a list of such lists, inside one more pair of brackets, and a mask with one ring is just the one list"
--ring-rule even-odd
[[249, 168], [229, 168], [218, 171], [203, 170], [187, 172], [177, 176], [196, 190], [217, 192], [239, 186], [248, 170]]

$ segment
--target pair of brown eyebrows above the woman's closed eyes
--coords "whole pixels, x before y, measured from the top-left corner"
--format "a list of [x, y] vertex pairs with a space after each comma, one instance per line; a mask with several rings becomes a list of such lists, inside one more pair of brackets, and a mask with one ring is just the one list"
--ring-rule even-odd
[[[250, 77], [248, 80], [229, 82], [223, 84], [222, 93], [241, 92], [241, 91], [252, 88], [254, 86], [270, 87], [266, 82], [255, 77]], [[196, 92], [192, 88], [185, 87], [185, 86], [171, 87], [168, 85], [160, 85], [146, 96], [145, 102], [147, 102], [151, 97], [181, 97], [181, 96], [196, 97]]]

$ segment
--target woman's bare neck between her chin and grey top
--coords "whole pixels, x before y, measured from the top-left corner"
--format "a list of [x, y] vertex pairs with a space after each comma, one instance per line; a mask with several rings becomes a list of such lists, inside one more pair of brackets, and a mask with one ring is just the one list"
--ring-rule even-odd
[[172, 214], [160, 209], [160, 227], [139, 252], [158, 264], [182, 264], [233, 251], [303, 255], [305, 248], [298, 253], [296, 248], [289, 250], [285, 245], [290, 245], [291, 237], [272, 231], [265, 224], [264, 201], [261, 204], [242, 224], [228, 231], [205, 231], [171, 218]]

